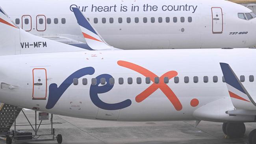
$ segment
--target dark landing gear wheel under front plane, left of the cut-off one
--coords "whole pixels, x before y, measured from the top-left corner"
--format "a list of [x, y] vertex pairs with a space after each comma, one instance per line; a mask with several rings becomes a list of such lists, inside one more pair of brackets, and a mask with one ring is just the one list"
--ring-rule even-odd
[[245, 134], [244, 123], [228, 123], [226, 125], [226, 135], [231, 138], [243, 137]]

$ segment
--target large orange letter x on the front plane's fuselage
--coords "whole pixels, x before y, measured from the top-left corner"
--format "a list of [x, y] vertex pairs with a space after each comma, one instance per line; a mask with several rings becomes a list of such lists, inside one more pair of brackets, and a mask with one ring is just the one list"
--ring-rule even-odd
[[168, 87], [168, 85], [166, 83], [164, 83], [165, 77], [168, 77], [169, 79], [171, 79], [171, 78], [174, 78], [175, 76], [177, 76], [178, 73], [176, 71], [169, 71], [169, 72], [166, 72], [165, 74], [163, 74], [160, 77], [160, 83], [157, 84], [157, 83], [155, 83], [155, 78], [157, 78], [158, 76], [156, 74], [154, 74], [153, 72], [151, 72], [150, 70], [147, 70], [146, 68], [143, 68], [134, 63], [129, 63], [127, 61], [118, 61], [117, 64], [120, 66], [129, 68], [131, 70], [134, 70], [135, 72], [138, 72], [145, 77], [149, 77], [150, 80], [154, 82], [152, 85], [150, 85], [150, 87], [148, 87], [146, 90], [141, 92], [141, 94], [136, 96], [136, 98], [135, 98], [136, 102], [142, 102], [148, 96], [150, 96], [153, 92], [160, 89], [165, 94], [165, 96], [167, 96], [167, 98], [170, 100], [170, 102], [173, 104], [174, 108], [177, 111], [182, 110], [182, 104], [180, 103], [180, 100], [174, 94], [173, 90], [171, 90], [170, 87]]

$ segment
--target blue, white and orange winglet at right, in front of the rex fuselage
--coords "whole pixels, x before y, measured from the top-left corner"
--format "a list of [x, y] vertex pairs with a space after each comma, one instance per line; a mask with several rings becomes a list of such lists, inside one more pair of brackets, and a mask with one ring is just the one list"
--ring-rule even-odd
[[220, 63], [229, 95], [236, 109], [256, 110], [256, 103], [227, 63]]

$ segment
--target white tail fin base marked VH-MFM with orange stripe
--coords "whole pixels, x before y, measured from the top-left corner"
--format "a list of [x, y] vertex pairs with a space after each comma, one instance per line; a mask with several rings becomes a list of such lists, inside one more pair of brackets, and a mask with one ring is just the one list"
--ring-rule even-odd
[[0, 34], [0, 56], [47, 52], [85, 51], [83, 48], [37, 37], [22, 30], [16, 26], [14, 22], [12, 22], [1, 7]]

